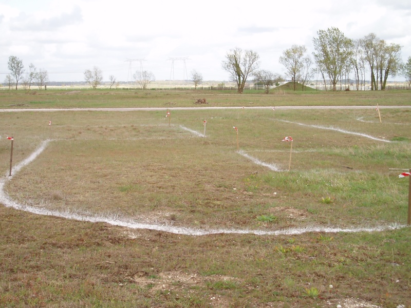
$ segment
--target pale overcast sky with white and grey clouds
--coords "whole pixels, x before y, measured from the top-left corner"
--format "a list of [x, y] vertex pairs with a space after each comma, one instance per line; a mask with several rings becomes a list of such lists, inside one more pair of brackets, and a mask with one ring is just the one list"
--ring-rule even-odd
[[228, 81], [221, 62], [235, 47], [284, 73], [283, 50], [305, 45], [312, 56], [313, 37], [330, 27], [353, 39], [373, 32], [400, 44], [403, 61], [411, 56], [410, 0], [0, 0], [0, 82], [10, 55], [47, 70], [50, 81], [83, 81], [94, 66], [105, 81], [127, 81], [130, 63], [132, 73], [141, 64], [156, 80], [190, 78], [195, 69], [204, 80]]

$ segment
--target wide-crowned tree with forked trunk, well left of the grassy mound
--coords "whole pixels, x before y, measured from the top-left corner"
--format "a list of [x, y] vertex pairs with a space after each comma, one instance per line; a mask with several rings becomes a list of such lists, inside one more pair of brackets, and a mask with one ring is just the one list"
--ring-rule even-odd
[[259, 67], [259, 55], [252, 50], [242, 51], [234, 48], [227, 52], [226, 61], [222, 62], [222, 69], [231, 75], [231, 79], [237, 83], [237, 92], [242, 93], [249, 75]]

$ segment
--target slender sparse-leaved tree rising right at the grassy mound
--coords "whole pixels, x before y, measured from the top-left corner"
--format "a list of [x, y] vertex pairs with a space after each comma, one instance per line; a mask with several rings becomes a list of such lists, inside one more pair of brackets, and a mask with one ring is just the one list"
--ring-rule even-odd
[[297, 89], [296, 84], [300, 81], [304, 75], [305, 57], [304, 53], [307, 52], [307, 48], [304, 45], [292, 45], [283, 51], [283, 55], [279, 57], [279, 63], [283, 64], [286, 68], [286, 75], [293, 81], [294, 91]]

